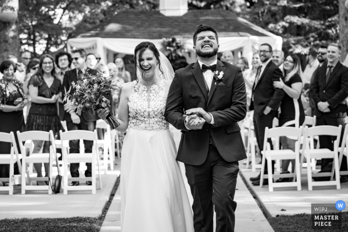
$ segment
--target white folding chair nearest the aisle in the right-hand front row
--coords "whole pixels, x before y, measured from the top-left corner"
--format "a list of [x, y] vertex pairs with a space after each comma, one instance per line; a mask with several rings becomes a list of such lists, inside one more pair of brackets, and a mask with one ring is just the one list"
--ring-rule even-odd
[[[297, 190], [301, 190], [301, 169], [300, 169], [300, 138], [302, 134], [302, 127], [276, 127], [268, 129], [265, 128], [264, 131], [264, 140], [263, 140], [263, 151], [262, 153], [262, 167], [261, 167], [261, 176], [260, 176], [260, 187], [263, 185], [263, 178], [268, 178], [268, 190], [269, 192], [273, 192], [273, 188], [280, 187], [297, 187]], [[270, 149], [270, 144], [267, 142], [268, 138], [276, 138], [279, 139], [281, 136], [293, 136], [297, 138], [295, 143], [295, 151], [290, 149]], [[266, 161], [267, 159], [267, 161]], [[290, 174], [272, 174], [272, 160], [284, 160], [284, 159], [294, 159], [295, 160], [295, 173]], [[268, 174], [263, 174], [264, 165], [267, 162], [267, 171]], [[282, 182], [282, 183], [273, 183], [274, 177], [292, 177], [293, 182]]]

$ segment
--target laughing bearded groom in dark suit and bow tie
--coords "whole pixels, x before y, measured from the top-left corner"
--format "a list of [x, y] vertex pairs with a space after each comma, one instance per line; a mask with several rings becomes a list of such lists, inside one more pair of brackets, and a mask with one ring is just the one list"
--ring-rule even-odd
[[[216, 31], [199, 25], [193, 35], [198, 61], [175, 72], [166, 120], [182, 132], [176, 160], [185, 164], [193, 196], [195, 232], [234, 232], [238, 160], [247, 158], [238, 121], [246, 116], [241, 69], [217, 60]], [[184, 115], [184, 116], [183, 116]]]

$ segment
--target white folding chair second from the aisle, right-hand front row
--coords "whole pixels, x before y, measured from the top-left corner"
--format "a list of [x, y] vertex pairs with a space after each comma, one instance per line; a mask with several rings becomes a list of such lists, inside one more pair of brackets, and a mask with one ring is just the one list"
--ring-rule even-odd
[[[302, 146], [302, 155], [301, 155], [301, 168], [304, 157], [307, 159], [307, 178], [308, 178], [308, 190], [312, 191], [313, 186], [330, 186], [336, 185], [337, 189], [341, 189], [340, 184], [340, 167], [339, 167], [339, 155], [338, 155], [338, 144], [340, 143], [342, 125], [340, 126], [331, 126], [331, 125], [320, 125], [308, 128], [304, 128], [303, 136], [303, 146]], [[327, 148], [315, 149], [313, 143], [313, 136], [320, 135], [330, 135], [336, 136], [337, 139], [334, 141], [334, 151], [331, 151]], [[311, 169], [311, 159], [312, 158], [333, 158], [334, 163], [331, 172], [322, 172], [322, 173], [312, 173]], [[336, 180], [333, 180], [333, 172], [336, 173]], [[314, 181], [312, 177], [325, 177], [330, 176], [330, 181]]]

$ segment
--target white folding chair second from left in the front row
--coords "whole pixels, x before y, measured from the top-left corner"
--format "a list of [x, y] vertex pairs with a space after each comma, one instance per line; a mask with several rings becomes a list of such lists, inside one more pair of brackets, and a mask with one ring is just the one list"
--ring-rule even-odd
[[[43, 140], [43, 141], [50, 141], [52, 144], [55, 143], [53, 131], [50, 130], [50, 132], [46, 131], [38, 131], [38, 130], [32, 130], [32, 131], [26, 131], [20, 133], [17, 131], [17, 137], [18, 142], [20, 144], [21, 153], [25, 154], [25, 146], [23, 146], [23, 142], [27, 140], [32, 140], [32, 138], [35, 138], [34, 140]], [[57, 154], [57, 157], [59, 155]], [[33, 153], [32, 151], [29, 152], [29, 156], [23, 155], [22, 157], [22, 194], [25, 194], [26, 190], [48, 190], [48, 194], [52, 194], [52, 189], [50, 185], [31, 185], [31, 181], [49, 181], [52, 180], [52, 163], [55, 160], [54, 152], [53, 152], [53, 146], [50, 145], [49, 153]], [[49, 163], [49, 174], [48, 177], [30, 177], [30, 174], [27, 172], [27, 164], [30, 163]], [[27, 173], [28, 183], [29, 185], [26, 185], [25, 182], [25, 175], [24, 173]]]

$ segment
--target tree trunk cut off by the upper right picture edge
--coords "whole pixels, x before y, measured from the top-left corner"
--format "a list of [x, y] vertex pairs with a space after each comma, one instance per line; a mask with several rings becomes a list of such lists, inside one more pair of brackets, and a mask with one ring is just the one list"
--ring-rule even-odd
[[341, 62], [346, 59], [348, 54], [348, 9], [345, 6], [346, 0], [340, 0], [340, 45], [342, 48]]

